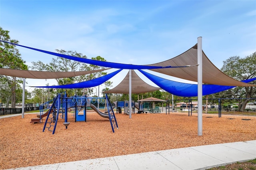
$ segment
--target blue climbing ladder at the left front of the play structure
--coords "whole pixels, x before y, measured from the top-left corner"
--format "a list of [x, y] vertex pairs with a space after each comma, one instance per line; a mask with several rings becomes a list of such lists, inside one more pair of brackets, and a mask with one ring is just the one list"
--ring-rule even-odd
[[61, 104], [60, 95], [61, 94], [58, 93], [58, 96], [56, 98], [54, 98], [53, 104], [50, 107], [50, 110], [46, 117], [46, 121], [44, 123], [43, 132], [44, 132], [45, 128], [48, 128], [49, 131], [52, 131], [52, 134], [54, 134], [54, 132], [55, 132], [56, 125], [58, 122], [59, 113], [60, 113], [60, 104]]

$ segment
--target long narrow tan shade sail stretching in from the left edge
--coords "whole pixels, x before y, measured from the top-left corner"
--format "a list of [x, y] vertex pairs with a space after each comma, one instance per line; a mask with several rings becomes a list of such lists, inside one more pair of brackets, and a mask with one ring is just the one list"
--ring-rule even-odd
[[[110, 68], [107, 68], [110, 69]], [[65, 77], [76, 77], [79, 75], [86, 75], [96, 73], [107, 69], [98, 69], [90, 71], [67, 71], [67, 72], [54, 72], [54, 71], [31, 71], [31, 70], [16, 70], [0, 68], [0, 75], [8, 75], [12, 77], [22, 77], [29, 79], [59, 79]]]

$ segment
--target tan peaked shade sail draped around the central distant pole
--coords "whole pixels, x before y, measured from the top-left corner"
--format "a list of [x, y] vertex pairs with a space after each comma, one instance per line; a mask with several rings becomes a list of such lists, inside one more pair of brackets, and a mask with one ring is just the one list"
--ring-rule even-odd
[[[139, 93], [147, 93], [150, 91], [160, 90], [159, 87], [151, 86], [145, 83], [140, 77], [132, 70], [132, 93], [139, 94]], [[129, 72], [127, 73], [126, 77], [121, 81], [119, 85], [114, 87], [111, 90], [105, 91], [104, 93], [122, 93], [128, 94], [129, 93]]]

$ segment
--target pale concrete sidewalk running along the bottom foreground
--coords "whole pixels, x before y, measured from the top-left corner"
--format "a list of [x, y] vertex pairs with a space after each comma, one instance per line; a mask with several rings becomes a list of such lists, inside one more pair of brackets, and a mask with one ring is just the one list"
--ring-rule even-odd
[[193, 146], [15, 170], [205, 170], [256, 158], [256, 140]]

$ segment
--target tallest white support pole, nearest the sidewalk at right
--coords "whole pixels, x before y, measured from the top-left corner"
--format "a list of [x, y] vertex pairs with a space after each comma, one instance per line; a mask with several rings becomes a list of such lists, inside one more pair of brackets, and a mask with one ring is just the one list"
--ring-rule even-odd
[[198, 98], [198, 136], [203, 135], [203, 97], [202, 97], [202, 37], [197, 38], [197, 98]]

